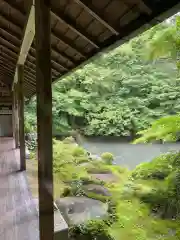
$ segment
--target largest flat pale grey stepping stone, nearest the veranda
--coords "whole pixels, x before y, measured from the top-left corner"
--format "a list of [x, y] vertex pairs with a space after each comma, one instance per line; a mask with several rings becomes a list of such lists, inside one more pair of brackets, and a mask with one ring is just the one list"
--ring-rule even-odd
[[60, 198], [56, 200], [56, 205], [70, 225], [103, 218], [108, 214], [108, 204], [87, 197]]

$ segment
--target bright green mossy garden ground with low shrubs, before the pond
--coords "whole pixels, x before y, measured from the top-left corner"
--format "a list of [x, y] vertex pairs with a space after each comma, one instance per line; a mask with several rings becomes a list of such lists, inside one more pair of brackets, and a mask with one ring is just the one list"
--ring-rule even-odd
[[[72, 227], [72, 233], [88, 234], [90, 239], [101, 234], [114, 240], [180, 239], [178, 153], [159, 156], [133, 172], [112, 165], [111, 160], [89, 159], [86, 151], [70, 139], [54, 141], [53, 154], [55, 199], [88, 196], [109, 204], [107, 219], [78, 226], [79, 231]], [[35, 156], [27, 161], [27, 173], [33, 195], [37, 197]], [[116, 180], [94, 178], [98, 173], [112, 174]], [[111, 195], [87, 193], [83, 186], [89, 183], [104, 186]]]

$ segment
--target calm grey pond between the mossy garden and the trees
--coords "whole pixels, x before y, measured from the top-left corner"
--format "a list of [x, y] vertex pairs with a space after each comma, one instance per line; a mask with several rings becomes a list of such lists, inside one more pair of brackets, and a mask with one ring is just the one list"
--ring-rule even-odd
[[122, 140], [85, 139], [81, 145], [95, 155], [111, 152], [115, 164], [135, 168], [142, 162], [151, 161], [154, 157], [169, 151], [180, 150], [180, 143], [130, 144]]

